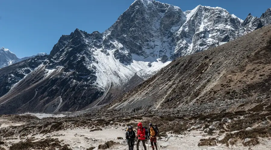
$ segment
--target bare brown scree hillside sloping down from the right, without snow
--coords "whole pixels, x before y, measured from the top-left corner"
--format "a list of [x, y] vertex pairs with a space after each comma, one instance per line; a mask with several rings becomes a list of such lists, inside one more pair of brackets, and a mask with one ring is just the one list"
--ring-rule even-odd
[[270, 107], [270, 58], [271, 26], [266, 26], [177, 58], [108, 108], [195, 114]]

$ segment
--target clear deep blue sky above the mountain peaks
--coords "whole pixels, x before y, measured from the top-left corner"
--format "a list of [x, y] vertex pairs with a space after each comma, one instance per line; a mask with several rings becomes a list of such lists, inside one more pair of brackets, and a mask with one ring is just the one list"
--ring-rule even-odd
[[[17, 57], [50, 53], [61, 35], [76, 28], [104, 32], [134, 0], [0, 0], [0, 46]], [[245, 19], [260, 17], [271, 0], [157, 0], [179, 6], [183, 11], [199, 4], [222, 7]]]

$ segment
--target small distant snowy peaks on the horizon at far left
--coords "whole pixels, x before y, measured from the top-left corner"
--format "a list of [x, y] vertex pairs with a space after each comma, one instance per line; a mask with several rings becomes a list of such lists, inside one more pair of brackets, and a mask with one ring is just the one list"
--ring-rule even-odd
[[4, 47], [2, 47], [0, 49], [0, 68], [9, 66], [11, 64], [15, 64], [17, 62], [20, 62], [29, 58], [33, 58], [38, 55], [47, 55], [47, 54], [42, 52], [36, 55], [32, 55], [30, 57], [17, 58], [17, 56], [13, 52], [11, 52], [9, 49], [5, 49]]

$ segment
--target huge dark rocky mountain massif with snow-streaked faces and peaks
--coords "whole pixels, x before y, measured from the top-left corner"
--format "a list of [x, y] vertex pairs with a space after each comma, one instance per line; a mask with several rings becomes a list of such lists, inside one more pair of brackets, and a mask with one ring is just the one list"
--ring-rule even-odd
[[246, 20], [220, 7], [199, 5], [183, 12], [170, 4], [136, 0], [105, 32], [76, 29], [62, 35], [48, 56], [2, 68], [7, 82], [2, 85], [0, 112], [51, 113], [102, 106], [179, 56], [260, 27], [254, 19]]

